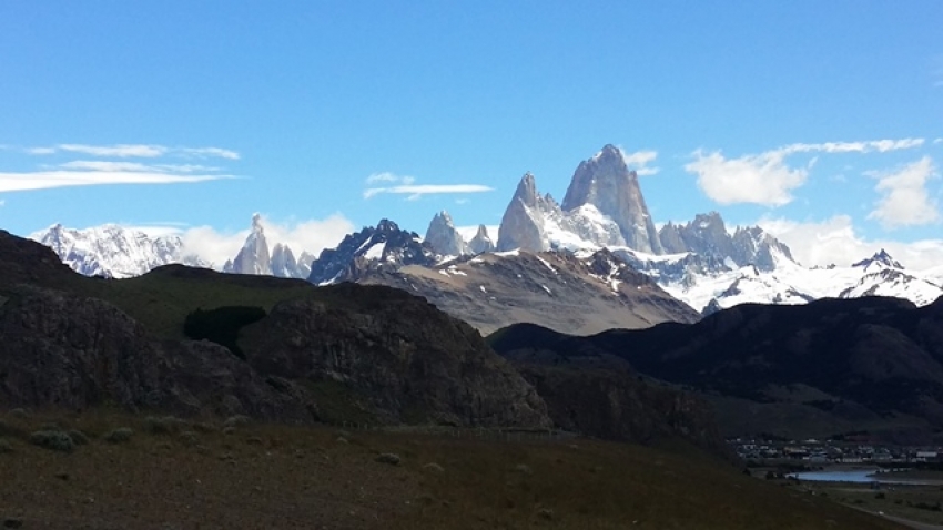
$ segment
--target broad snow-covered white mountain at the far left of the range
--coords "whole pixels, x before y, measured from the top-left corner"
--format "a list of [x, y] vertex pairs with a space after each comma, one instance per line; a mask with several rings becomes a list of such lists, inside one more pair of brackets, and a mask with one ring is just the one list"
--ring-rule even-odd
[[54, 224], [29, 237], [52, 248], [64, 264], [85, 276], [126, 278], [171, 263], [206, 265], [186, 255], [175, 235], [150, 237], [111, 224], [84, 230]]

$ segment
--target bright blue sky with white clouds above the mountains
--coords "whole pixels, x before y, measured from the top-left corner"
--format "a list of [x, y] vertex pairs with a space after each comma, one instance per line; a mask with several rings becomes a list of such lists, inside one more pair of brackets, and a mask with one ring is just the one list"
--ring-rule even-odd
[[254, 212], [311, 247], [439, 210], [494, 225], [526, 171], [561, 198], [612, 143], [647, 161], [658, 222], [717, 210], [804, 262], [929, 265], [941, 20], [936, 0], [2, 2], [0, 226], [199, 228], [229, 252]]

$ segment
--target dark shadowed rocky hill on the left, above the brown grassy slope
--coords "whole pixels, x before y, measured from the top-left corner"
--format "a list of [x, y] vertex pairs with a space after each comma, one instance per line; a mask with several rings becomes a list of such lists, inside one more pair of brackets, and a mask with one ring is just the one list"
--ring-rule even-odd
[[[548, 266], [539, 264], [550, 274]], [[626, 279], [602, 272], [616, 275], [607, 285]], [[682, 437], [723, 452], [703, 402], [662, 406], [675, 393], [637, 391], [645, 399], [635, 406], [650, 408], [646, 424], [554, 421], [534, 384], [473, 327], [392, 287], [181, 265], [88, 278], [9, 234], [0, 234], [0, 402], [308, 422], [556, 424], [626, 441]]]

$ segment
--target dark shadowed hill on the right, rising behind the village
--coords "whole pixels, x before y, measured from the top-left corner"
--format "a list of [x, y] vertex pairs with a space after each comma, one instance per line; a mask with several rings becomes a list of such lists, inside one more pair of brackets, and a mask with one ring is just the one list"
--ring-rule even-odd
[[943, 302], [740, 305], [692, 325], [592, 337], [513, 326], [490, 343], [518, 361], [622, 363], [696, 388], [728, 436], [871, 430], [925, 441], [943, 428]]

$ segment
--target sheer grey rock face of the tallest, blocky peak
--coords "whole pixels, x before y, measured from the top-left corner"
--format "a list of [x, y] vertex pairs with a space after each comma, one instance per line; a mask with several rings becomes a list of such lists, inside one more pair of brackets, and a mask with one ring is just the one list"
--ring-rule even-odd
[[638, 175], [629, 171], [618, 147], [606, 145], [576, 169], [562, 210], [569, 212], [585, 204], [596, 206], [599, 213], [615, 221], [629, 247], [650, 254], [662, 253]]

